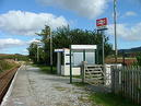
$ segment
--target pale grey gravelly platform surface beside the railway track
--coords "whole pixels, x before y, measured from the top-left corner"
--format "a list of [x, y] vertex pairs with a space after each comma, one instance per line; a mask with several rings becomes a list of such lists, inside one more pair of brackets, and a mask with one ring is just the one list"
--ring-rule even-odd
[[66, 76], [50, 75], [32, 66], [17, 72], [11, 95], [3, 106], [94, 106], [89, 93], [69, 84]]

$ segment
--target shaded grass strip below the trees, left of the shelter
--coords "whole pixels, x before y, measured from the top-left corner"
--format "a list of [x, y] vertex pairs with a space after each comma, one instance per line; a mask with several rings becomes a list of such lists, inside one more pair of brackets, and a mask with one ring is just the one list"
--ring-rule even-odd
[[56, 67], [52, 67], [52, 72], [51, 72], [50, 67], [48, 67], [48, 66], [45, 66], [45, 64], [33, 64], [33, 66], [38, 67], [42, 72], [47, 73], [47, 74], [56, 74], [57, 73]]

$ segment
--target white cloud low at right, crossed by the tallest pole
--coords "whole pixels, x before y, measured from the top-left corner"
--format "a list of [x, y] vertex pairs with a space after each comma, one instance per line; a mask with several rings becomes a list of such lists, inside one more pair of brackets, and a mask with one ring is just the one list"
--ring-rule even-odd
[[[117, 24], [117, 36], [126, 40], [141, 40], [141, 22], [133, 26], [129, 24]], [[108, 26], [108, 34], [114, 35], [114, 25]]]

